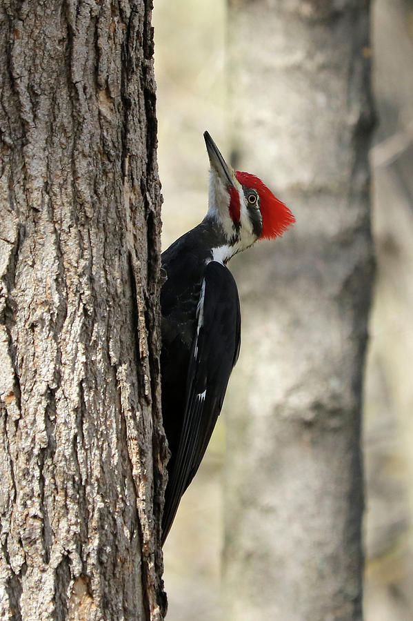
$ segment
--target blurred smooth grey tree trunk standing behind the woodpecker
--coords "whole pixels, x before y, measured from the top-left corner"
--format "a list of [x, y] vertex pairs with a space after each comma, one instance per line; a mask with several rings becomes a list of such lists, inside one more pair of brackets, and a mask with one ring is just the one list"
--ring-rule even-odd
[[297, 221], [232, 264], [243, 344], [226, 408], [225, 619], [360, 619], [369, 7], [233, 0], [228, 18], [234, 164]]

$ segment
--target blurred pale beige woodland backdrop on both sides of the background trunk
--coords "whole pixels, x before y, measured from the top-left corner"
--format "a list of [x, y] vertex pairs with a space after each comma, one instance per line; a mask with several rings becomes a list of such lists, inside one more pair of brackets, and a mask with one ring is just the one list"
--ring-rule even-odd
[[[163, 248], [205, 215], [205, 129], [228, 155], [225, 20], [223, 0], [154, 3]], [[413, 619], [413, 2], [375, 0], [371, 35], [378, 117], [370, 158], [376, 279], [363, 408], [363, 603], [367, 621], [407, 621]], [[225, 618], [222, 470], [225, 409], [236, 373], [165, 544], [171, 621]]]

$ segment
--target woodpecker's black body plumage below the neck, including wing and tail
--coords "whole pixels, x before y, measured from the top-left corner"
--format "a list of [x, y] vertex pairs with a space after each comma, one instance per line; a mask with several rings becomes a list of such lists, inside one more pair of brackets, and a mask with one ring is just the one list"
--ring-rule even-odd
[[[161, 291], [162, 410], [172, 453], [163, 541], [208, 446], [240, 347], [241, 313], [234, 278], [223, 264], [205, 262], [209, 244], [199, 239], [195, 245], [190, 243], [188, 235], [197, 229], [162, 257], [168, 273]], [[187, 245], [197, 248], [197, 253], [188, 257]]]

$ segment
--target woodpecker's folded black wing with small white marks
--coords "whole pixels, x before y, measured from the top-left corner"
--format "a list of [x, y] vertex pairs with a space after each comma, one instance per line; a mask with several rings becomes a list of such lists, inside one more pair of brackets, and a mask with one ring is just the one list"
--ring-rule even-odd
[[165, 491], [163, 542], [210, 441], [240, 344], [241, 313], [234, 277], [223, 264], [212, 261], [205, 268], [197, 333], [188, 366], [183, 425]]

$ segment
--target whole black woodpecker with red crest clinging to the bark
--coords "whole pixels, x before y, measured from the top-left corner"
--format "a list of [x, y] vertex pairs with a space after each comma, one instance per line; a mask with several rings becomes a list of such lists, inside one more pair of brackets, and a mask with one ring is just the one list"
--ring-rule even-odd
[[295, 221], [258, 177], [234, 172], [208, 132], [203, 137], [210, 158], [208, 213], [162, 254], [162, 413], [171, 451], [162, 543], [199, 468], [239, 355], [238, 290], [226, 264]]

